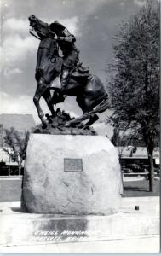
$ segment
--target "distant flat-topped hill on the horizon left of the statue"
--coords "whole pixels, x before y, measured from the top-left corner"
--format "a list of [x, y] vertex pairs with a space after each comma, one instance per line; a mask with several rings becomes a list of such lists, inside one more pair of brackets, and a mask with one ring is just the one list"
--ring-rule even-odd
[[14, 129], [18, 131], [30, 130], [36, 125], [32, 114], [11, 113], [0, 114], [0, 124], [3, 124], [4, 129], [14, 127]]

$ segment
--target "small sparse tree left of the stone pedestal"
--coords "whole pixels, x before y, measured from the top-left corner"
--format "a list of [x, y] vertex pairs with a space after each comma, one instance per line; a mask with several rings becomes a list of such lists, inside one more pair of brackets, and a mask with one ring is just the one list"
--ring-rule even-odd
[[26, 159], [26, 147], [29, 139], [29, 131], [21, 134], [14, 128], [6, 129], [4, 136], [4, 143], [7, 148], [3, 150], [9, 154], [12, 160], [18, 163], [19, 175], [23, 160]]

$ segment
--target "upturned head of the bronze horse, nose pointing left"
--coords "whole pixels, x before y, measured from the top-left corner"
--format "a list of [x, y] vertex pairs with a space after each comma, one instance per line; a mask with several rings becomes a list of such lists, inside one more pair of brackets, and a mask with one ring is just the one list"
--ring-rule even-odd
[[32, 26], [32, 31], [37, 32], [40, 39], [47, 38], [49, 36], [50, 29], [48, 23], [39, 20], [35, 15], [31, 15], [28, 20], [30, 21], [30, 26]]

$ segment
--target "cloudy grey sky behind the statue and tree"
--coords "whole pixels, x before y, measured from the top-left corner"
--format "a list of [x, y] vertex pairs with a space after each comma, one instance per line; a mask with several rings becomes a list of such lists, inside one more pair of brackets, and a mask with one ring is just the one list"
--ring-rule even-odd
[[[111, 37], [117, 33], [117, 23], [129, 20], [130, 15], [145, 3], [144, 0], [0, 1], [0, 113], [32, 113], [36, 121], [32, 97], [37, 86], [34, 72], [39, 42], [29, 34], [28, 16], [34, 14], [49, 23], [59, 20], [65, 25], [77, 38], [84, 66], [105, 83], [107, 74], [104, 69], [107, 63], [112, 62], [114, 42]], [[82, 113], [74, 97], [68, 97], [61, 108], [66, 108], [73, 115]]]

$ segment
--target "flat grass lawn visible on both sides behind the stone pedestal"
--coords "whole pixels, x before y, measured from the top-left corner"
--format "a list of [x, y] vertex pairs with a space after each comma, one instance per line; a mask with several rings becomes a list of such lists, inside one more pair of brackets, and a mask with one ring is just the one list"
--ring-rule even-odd
[[[160, 181], [154, 180], [154, 192], [148, 191], [147, 180], [124, 182], [124, 197], [129, 196], [157, 196], [160, 190]], [[20, 201], [21, 179], [0, 179], [0, 201]]]

